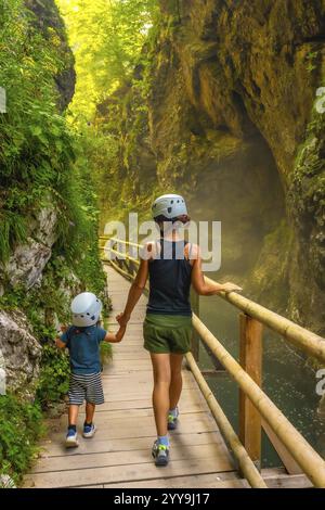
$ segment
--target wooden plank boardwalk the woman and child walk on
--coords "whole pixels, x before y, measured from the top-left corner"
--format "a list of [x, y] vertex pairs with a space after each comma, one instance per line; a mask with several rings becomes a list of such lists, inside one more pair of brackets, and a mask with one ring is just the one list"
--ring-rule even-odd
[[[130, 284], [110, 267], [106, 271], [115, 329], [115, 315], [123, 309]], [[25, 487], [248, 487], [238, 477], [207, 404], [186, 368], [180, 426], [171, 433], [171, 460], [167, 468], [154, 466], [152, 370], [142, 346], [145, 306], [146, 297], [142, 296], [123, 341], [114, 346], [113, 362], [103, 372], [106, 401], [95, 415], [95, 436], [84, 439], [79, 434], [80, 446], [66, 450], [67, 417], [51, 420], [41, 457], [25, 476]], [[79, 417], [80, 429], [82, 422], [83, 413]], [[281, 486], [282, 477], [287, 479], [273, 473], [270, 485]]]

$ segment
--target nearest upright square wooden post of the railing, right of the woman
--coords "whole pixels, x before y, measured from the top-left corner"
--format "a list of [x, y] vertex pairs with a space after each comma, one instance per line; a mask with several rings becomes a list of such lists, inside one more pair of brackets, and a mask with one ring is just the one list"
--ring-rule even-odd
[[[239, 361], [243, 369], [259, 385], [262, 384], [263, 326], [246, 314], [239, 315]], [[239, 438], [258, 469], [261, 468], [262, 424], [260, 413], [239, 390]]]

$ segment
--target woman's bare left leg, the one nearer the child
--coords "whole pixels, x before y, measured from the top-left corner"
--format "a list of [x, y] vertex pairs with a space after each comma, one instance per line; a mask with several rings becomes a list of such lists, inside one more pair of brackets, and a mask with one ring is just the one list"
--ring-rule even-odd
[[167, 417], [170, 408], [170, 355], [151, 353], [154, 370], [153, 407], [158, 436], [167, 435]]

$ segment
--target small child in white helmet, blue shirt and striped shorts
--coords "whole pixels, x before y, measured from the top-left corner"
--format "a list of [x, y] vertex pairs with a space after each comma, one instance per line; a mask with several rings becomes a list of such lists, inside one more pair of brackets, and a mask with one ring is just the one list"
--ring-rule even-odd
[[78, 446], [77, 418], [79, 406], [86, 400], [83, 437], [93, 437], [95, 406], [104, 404], [101, 378], [101, 342], [120, 342], [126, 328], [120, 327], [116, 334], [107, 333], [99, 327], [102, 310], [101, 301], [91, 292], [82, 292], [72, 303], [73, 326], [56, 339], [58, 348], [67, 347], [70, 358], [68, 430], [65, 439], [67, 448]]

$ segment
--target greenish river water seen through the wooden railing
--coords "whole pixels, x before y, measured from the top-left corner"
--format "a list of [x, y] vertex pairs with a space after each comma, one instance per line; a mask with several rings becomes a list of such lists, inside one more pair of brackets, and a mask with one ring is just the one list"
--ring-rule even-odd
[[[199, 316], [224, 347], [238, 360], [239, 310], [218, 296], [200, 297]], [[209, 355], [200, 346], [200, 368], [212, 368]], [[232, 425], [238, 432], [238, 386], [222, 372], [206, 380], [222, 406]], [[315, 372], [306, 366], [276, 333], [263, 334], [263, 391], [283, 411], [296, 429], [325, 457], [325, 420], [317, 415], [321, 397], [315, 393]], [[282, 462], [263, 433], [262, 467], [278, 467]]]

